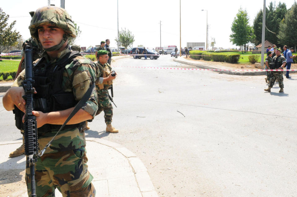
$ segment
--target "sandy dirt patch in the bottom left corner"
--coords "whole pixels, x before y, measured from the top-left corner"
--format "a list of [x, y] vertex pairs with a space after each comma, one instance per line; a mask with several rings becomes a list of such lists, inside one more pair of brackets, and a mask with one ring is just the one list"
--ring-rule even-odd
[[0, 172], [0, 196], [21, 197], [26, 193], [25, 170], [15, 169]]

